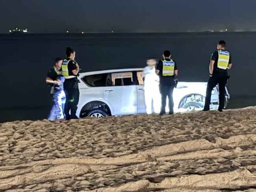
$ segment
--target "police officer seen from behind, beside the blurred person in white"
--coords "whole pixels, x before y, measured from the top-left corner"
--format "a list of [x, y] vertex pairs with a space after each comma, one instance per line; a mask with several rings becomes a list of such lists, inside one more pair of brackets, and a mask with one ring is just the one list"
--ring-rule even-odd
[[166, 98], [169, 100], [169, 114], [173, 114], [173, 89], [175, 87], [174, 80], [178, 75], [176, 62], [171, 59], [171, 52], [166, 50], [163, 52], [163, 59], [158, 62], [156, 74], [160, 77], [159, 90], [161, 94], [161, 111], [160, 115], [165, 114]]

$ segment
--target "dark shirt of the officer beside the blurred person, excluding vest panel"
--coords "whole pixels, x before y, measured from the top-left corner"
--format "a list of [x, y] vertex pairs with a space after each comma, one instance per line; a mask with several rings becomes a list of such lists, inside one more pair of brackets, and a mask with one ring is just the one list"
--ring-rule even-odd
[[[166, 61], [171, 61], [171, 59], [165, 59]], [[174, 60], [173, 60], [174, 61]], [[160, 85], [163, 86], [171, 86], [174, 85], [174, 76], [163, 76], [163, 61], [160, 60], [158, 62], [158, 65], [156, 66], [156, 69], [159, 70], [159, 78], [160, 78]], [[177, 70], [177, 63], [174, 61], [174, 71]]]

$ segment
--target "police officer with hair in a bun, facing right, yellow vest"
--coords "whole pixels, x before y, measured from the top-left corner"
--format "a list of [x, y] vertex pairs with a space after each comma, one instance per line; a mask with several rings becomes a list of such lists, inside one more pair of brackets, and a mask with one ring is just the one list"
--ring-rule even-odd
[[65, 77], [64, 91], [66, 94], [66, 103], [64, 112], [66, 120], [78, 119], [78, 117], [76, 116], [76, 110], [79, 101], [79, 81], [77, 79], [79, 65], [74, 60], [76, 56], [75, 50], [71, 49], [70, 47], [67, 47], [66, 55], [67, 59], [64, 59], [61, 65], [62, 74]]

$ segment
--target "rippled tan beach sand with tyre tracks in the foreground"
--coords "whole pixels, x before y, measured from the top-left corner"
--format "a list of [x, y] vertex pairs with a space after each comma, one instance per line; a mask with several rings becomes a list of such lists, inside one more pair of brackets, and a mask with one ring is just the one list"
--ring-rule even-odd
[[256, 191], [256, 107], [3, 123], [2, 191]]

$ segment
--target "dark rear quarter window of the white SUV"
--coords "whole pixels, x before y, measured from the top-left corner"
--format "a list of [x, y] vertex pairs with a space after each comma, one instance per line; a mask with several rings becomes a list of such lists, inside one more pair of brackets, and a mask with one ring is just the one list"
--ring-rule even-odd
[[89, 75], [82, 78], [82, 80], [91, 87], [105, 87], [106, 74]]

